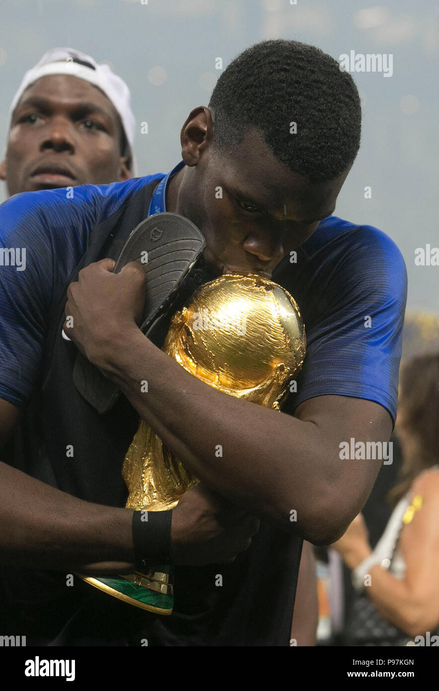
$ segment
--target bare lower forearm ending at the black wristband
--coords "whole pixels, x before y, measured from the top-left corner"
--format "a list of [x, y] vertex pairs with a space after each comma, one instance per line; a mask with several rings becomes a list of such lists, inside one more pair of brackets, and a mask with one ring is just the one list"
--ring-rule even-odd
[[84, 502], [0, 463], [0, 562], [84, 573], [133, 569], [133, 511]]

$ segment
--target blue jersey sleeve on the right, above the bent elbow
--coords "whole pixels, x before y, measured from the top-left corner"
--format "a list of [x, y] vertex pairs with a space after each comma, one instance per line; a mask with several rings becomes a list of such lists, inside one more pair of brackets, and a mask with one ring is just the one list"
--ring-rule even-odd
[[306, 287], [313, 292], [306, 357], [286, 405], [322, 395], [363, 398], [386, 408], [394, 424], [407, 299], [402, 255], [382, 231], [364, 226], [342, 251], [317, 260], [315, 283]]

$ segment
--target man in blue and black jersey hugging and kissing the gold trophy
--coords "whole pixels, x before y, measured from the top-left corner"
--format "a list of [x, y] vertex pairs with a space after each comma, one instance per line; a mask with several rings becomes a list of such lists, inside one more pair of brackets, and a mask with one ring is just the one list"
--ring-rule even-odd
[[[291, 120], [297, 122], [297, 134]], [[380, 231], [331, 217], [360, 141], [360, 104], [351, 77], [311, 46], [266, 41], [225, 70], [209, 108], [191, 112], [181, 140], [183, 161], [167, 176], [161, 210], [183, 214], [202, 229], [211, 277], [233, 270], [270, 275], [276, 269], [273, 278], [295, 296], [304, 316], [309, 340], [304, 371], [297, 395], [289, 401], [289, 415], [211, 390], [175, 369], [139, 332], [135, 316], [144, 298], [141, 276], [135, 267], [111, 274], [110, 260], [81, 272], [79, 283], [70, 286], [66, 305], [66, 287], [92, 230], [104, 223], [108, 232], [118, 234], [135, 227], [150, 209], [150, 194], [157, 187], [153, 176], [111, 190], [79, 188], [74, 207], [64, 191], [30, 198], [24, 211], [14, 200], [6, 202], [1, 215], [5, 244], [19, 237], [31, 242], [26, 234], [32, 218], [39, 236], [32, 246], [46, 252], [49, 265], [52, 255], [44, 249], [43, 238], [49, 236], [55, 256], [65, 234], [76, 238], [72, 256], [55, 266], [56, 275], [41, 281], [37, 265], [31, 264], [29, 285], [19, 289], [17, 276], [8, 274], [9, 294], [17, 289], [17, 315], [9, 313], [10, 304], [6, 310], [9, 328], [23, 318], [20, 308], [28, 303], [30, 284], [37, 305], [34, 300], [32, 309], [24, 310], [33, 351], [28, 345], [22, 363], [3, 370], [3, 438], [17, 425], [19, 406], [31, 399], [41, 405], [30, 406], [34, 418], [25, 415], [21, 437], [16, 433], [15, 446], [6, 444], [3, 455], [3, 488], [9, 500], [3, 509], [1, 554], [3, 562], [16, 567], [15, 580], [3, 571], [6, 591], [7, 586], [10, 591], [17, 588], [19, 581], [26, 589], [28, 614], [35, 616], [39, 610], [47, 623], [47, 613], [41, 612], [48, 607], [49, 593], [55, 598], [56, 581], [57, 596], [63, 597], [64, 586], [68, 598], [66, 569], [90, 574], [133, 569], [133, 512], [112, 507], [124, 505], [120, 467], [139, 414], [197, 477], [262, 518], [251, 547], [241, 554], [257, 522], [248, 518], [245, 524], [239, 509], [235, 515], [228, 511], [229, 530], [237, 530], [238, 517], [245, 526], [234, 536], [237, 547], [231, 554], [231, 540], [219, 549], [203, 530], [208, 511], [202, 488], [186, 493], [172, 516], [174, 614], [135, 622], [134, 608], [101, 594], [89, 606], [92, 596], [79, 584], [68, 607], [60, 610], [59, 621], [50, 621], [44, 632], [46, 641], [57, 645], [86, 643], [90, 636], [110, 645], [139, 645], [136, 623], [138, 631], [148, 630], [150, 645], [288, 645], [302, 538], [329, 544], [340, 536], [360, 511], [378, 471], [376, 462], [341, 463], [340, 441], [352, 436], [388, 439], [395, 418], [404, 264]], [[218, 188], [221, 197], [215, 196]], [[61, 225], [59, 215], [67, 215], [67, 210], [70, 214]], [[295, 251], [297, 265], [290, 261]], [[137, 414], [121, 399], [117, 410], [99, 419], [81, 401], [71, 384], [75, 351], [66, 350], [72, 344], [60, 337], [64, 305], [66, 314], [75, 316], [72, 339], [117, 381]], [[371, 334], [364, 329], [367, 314], [374, 324]], [[50, 362], [43, 349], [47, 320]], [[148, 380], [155, 395], [147, 400], [137, 391], [139, 363], [153, 365]], [[32, 424], [35, 419], [38, 424]], [[24, 443], [30, 428], [39, 430], [38, 471], [38, 444]], [[24, 442], [18, 448], [20, 438]], [[215, 454], [211, 458], [213, 438], [228, 445], [220, 466]], [[74, 445], [75, 464], [66, 464], [67, 444]], [[34, 497], [32, 511], [23, 518], [29, 495]], [[297, 511], [297, 522], [291, 521], [291, 509]], [[208, 518], [215, 522], [217, 516], [211, 512]], [[34, 568], [64, 570], [59, 578], [51, 571], [40, 576], [48, 580], [46, 603], [41, 590], [39, 600], [32, 591], [26, 571], [31, 560]], [[221, 588], [215, 587], [218, 571], [223, 575]], [[35, 571], [32, 577], [37, 578]], [[13, 602], [10, 597], [11, 607]], [[14, 616], [18, 621], [17, 609]], [[33, 636], [41, 641], [41, 629]]]

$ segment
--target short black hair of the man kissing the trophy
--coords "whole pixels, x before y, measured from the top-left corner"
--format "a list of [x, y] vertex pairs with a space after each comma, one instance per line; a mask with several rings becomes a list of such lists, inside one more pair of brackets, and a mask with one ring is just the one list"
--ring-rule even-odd
[[275, 158], [311, 182], [337, 178], [360, 148], [360, 95], [351, 75], [299, 41], [274, 39], [244, 50], [219, 77], [208, 107], [217, 149], [257, 128]]

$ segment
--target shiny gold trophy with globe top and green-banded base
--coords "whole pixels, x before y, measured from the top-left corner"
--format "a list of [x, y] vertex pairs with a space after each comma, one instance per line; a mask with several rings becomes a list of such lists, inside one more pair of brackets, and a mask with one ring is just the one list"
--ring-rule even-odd
[[[231, 396], [280, 410], [306, 350], [293, 297], [257, 274], [224, 274], [199, 287], [170, 321], [162, 350], [192, 375]], [[168, 511], [199, 480], [142, 420], [124, 460], [127, 509]], [[88, 583], [156, 614], [173, 611], [173, 569]]]

